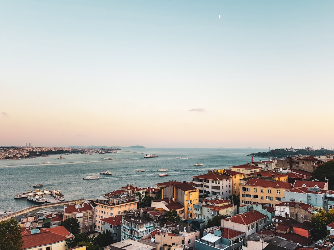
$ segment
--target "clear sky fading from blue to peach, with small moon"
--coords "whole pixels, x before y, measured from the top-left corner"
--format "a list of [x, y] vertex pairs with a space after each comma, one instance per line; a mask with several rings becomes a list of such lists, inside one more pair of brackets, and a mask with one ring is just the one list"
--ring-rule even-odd
[[0, 145], [334, 147], [333, 13], [331, 0], [3, 0]]

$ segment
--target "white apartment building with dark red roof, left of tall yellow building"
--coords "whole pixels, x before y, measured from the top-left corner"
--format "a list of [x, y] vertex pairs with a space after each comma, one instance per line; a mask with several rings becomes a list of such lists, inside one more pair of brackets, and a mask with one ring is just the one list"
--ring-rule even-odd
[[194, 187], [198, 188], [199, 201], [211, 195], [219, 196], [222, 199], [228, 199], [232, 195], [232, 178], [217, 172], [216, 169], [191, 178], [193, 178]]

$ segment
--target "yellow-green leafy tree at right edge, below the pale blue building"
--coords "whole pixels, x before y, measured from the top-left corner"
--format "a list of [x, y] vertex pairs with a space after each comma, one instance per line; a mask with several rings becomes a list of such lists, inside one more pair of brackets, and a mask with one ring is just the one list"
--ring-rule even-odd
[[321, 239], [328, 234], [327, 225], [334, 221], [334, 210], [330, 209], [328, 212], [320, 210], [311, 218], [311, 225], [316, 239]]

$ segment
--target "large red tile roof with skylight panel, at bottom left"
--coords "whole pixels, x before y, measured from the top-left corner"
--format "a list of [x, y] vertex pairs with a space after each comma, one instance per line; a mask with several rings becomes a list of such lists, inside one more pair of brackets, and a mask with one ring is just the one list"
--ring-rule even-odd
[[23, 249], [54, 244], [73, 238], [63, 226], [39, 229], [40, 233], [31, 234], [30, 230], [22, 232]]

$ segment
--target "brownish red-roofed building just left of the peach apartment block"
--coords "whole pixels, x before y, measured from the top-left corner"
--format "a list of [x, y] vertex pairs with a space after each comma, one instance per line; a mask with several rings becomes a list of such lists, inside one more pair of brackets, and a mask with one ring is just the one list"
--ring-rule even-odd
[[80, 233], [89, 234], [94, 231], [94, 207], [87, 201], [80, 204], [64, 205], [63, 219], [76, 218], [79, 221]]

